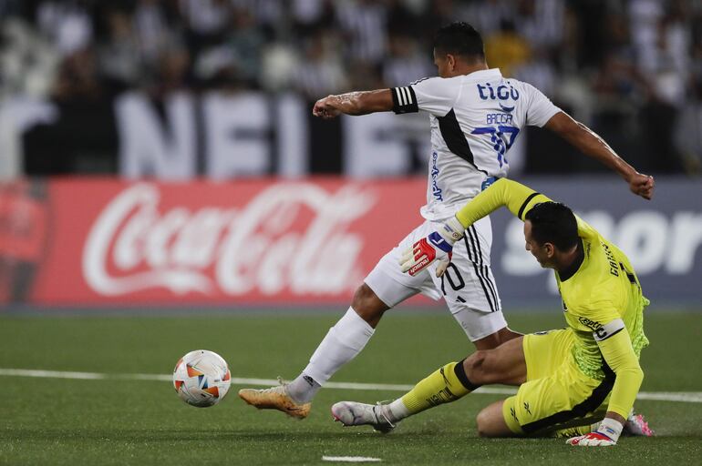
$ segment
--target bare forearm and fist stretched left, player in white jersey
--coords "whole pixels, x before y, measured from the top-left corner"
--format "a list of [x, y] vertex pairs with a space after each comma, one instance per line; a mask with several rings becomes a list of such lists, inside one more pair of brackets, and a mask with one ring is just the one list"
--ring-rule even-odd
[[345, 115], [367, 115], [376, 112], [389, 112], [393, 109], [393, 96], [390, 89], [375, 91], [348, 92], [338, 96], [326, 96], [316, 101], [312, 109], [315, 117], [325, 119]]

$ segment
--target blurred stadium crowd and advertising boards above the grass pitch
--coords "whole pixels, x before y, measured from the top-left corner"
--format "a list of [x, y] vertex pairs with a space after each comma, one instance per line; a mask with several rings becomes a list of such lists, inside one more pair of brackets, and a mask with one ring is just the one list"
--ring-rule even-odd
[[[428, 125], [310, 108], [433, 76], [432, 31], [452, 20], [481, 31], [490, 66], [542, 89], [658, 189], [650, 203], [628, 195], [539, 128], [511, 148], [511, 177], [604, 228], [654, 302], [700, 298], [699, 2], [4, 0], [0, 15], [0, 302], [346, 302], [418, 222]], [[495, 222], [505, 305], [552, 302], [517, 224]], [[321, 258], [305, 259], [315, 244]]]

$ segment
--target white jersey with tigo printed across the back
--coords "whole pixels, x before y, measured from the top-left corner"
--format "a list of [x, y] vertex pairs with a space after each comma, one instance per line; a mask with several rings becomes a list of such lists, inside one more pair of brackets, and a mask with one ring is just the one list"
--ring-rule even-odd
[[507, 175], [521, 128], [542, 127], [561, 111], [534, 86], [505, 79], [497, 68], [391, 90], [395, 113], [429, 113], [431, 157], [421, 215], [434, 221], [454, 215], [490, 177]]

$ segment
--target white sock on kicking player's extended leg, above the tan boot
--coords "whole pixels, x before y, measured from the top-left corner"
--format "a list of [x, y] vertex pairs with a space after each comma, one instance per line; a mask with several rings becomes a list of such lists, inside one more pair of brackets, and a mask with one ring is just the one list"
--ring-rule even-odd
[[356, 310], [348, 308], [326, 333], [302, 374], [288, 385], [288, 394], [300, 403], [311, 401], [336, 370], [364, 349], [375, 331]]

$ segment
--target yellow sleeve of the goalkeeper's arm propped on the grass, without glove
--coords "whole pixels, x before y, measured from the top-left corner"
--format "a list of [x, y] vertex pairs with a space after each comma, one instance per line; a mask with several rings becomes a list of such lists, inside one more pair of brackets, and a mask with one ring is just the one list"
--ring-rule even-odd
[[605, 339], [598, 340], [597, 345], [607, 365], [616, 374], [607, 410], [614, 411], [626, 419], [644, 380], [644, 371], [641, 370], [632, 348], [629, 332], [623, 328]]

